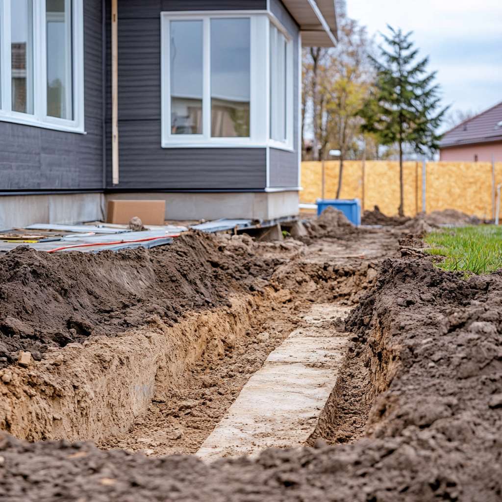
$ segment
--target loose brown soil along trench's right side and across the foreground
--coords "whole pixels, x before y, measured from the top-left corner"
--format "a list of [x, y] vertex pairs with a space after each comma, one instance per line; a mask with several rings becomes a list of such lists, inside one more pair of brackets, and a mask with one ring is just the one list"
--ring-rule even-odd
[[[502, 275], [384, 262], [347, 320], [377, 397], [366, 437], [204, 465], [87, 443], [0, 440], [0, 492], [21, 500], [495, 502], [502, 497]], [[333, 438], [326, 436], [328, 442]], [[41, 468], [43, 467], [43, 468]]]

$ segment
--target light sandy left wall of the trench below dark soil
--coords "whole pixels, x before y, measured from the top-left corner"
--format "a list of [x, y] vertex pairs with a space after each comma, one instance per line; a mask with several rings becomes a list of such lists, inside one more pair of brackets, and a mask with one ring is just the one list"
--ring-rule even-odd
[[190, 314], [172, 327], [152, 317], [146, 327], [50, 351], [28, 368], [8, 366], [0, 370], [0, 430], [29, 441], [99, 441], [127, 431], [159, 379], [175, 386], [204, 352], [244, 336], [259, 301], [233, 297], [231, 308]]

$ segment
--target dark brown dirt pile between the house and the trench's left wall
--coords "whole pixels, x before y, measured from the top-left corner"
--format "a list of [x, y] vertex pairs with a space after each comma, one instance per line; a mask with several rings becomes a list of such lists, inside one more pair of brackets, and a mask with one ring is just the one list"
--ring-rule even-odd
[[253, 288], [275, 267], [243, 237], [234, 240], [231, 251], [204, 233], [118, 253], [18, 247], [0, 258], [0, 367], [17, 360], [19, 350], [40, 360], [48, 347], [119, 333], [149, 315], [169, 324], [185, 310], [225, 305], [230, 291]]

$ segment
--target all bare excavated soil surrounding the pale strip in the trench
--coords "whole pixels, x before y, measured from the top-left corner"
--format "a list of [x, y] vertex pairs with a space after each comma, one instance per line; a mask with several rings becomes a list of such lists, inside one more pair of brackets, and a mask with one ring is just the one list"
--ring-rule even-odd
[[[502, 499], [502, 275], [435, 268], [417, 219], [307, 227], [0, 258], [0, 498]], [[190, 455], [302, 329], [347, 340], [304, 446]]]

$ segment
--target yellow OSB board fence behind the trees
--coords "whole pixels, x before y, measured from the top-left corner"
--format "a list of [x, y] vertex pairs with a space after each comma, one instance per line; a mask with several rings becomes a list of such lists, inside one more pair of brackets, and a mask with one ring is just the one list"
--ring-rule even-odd
[[[338, 161], [326, 161], [325, 198], [334, 198], [338, 187]], [[403, 169], [405, 214], [422, 211], [422, 162], [405, 162]], [[364, 172], [364, 176], [363, 176]], [[495, 185], [502, 183], [502, 163], [495, 164]], [[303, 191], [300, 202], [321, 198], [322, 163], [302, 162]], [[428, 162], [426, 166], [426, 211], [458, 209], [480, 218], [492, 215], [492, 178], [489, 162]], [[386, 214], [399, 207], [397, 161], [345, 161], [340, 197], [358, 198], [365, 209], [374, 205]], [[502, 215], [502, 211], [501, 211]]]

